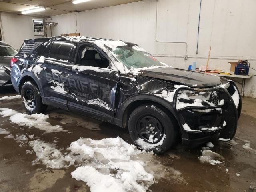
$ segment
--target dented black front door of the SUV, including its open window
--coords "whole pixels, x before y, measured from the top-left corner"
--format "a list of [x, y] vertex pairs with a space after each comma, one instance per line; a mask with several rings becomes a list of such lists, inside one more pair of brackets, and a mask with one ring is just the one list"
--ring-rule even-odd
[[77, 81], [69, 87], [68, 108], [102, 120], [112, 120], [119, 73], [111, 68], [107, 56], [92, 46], [81, 44], [73, 75]]

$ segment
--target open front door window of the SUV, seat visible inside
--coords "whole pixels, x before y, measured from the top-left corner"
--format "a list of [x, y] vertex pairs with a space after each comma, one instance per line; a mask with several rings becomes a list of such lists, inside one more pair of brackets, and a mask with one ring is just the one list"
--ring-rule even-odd
[[78, 50], [77, 64], [83, 66], [108, 68], [109, 61], [96, 49], [89, 46], [80, 46]]

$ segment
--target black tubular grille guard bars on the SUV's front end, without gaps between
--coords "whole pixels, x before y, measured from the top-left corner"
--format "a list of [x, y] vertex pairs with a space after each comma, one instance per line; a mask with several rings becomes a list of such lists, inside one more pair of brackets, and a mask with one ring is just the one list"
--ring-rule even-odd
[[[234, 87], [236, 90], [234, 89]], [[218, 98], [219, 100], [224, 99], [225, 103], [223, 105], [214, 105], [214, 106], [186, 106], [181, 109], [176, 109], [177, 105], [177, 100], [178, 100], [178, 92], [180, 90], [188, 90], [188, 91], [195, 91], [195, 92], [212, 92], [216, 91], [218, 92]], [[238, 108], [236, 108], [236, 105], [232, 99], [232, 96], [235, 91], [238, 91], [239, 94], [239, 105]], [[233, 94], [232, 94], [233, 92]], [[177, 88], [175, 94], [174, 94], [174, 100], [173, 100], [173, 108], [174, 111], [176, 111], [176, 116], [178, 117], [178, 123], [181, 127], [181, 132], [182, 132], [182, 142], [186, 140], [193, 140], [194, 135], [198, 134], [200, 137], [205, 136], [205, 135], [212, 135], [216, 134], [217, 132], [220, 132], [220, 138], [224, 138], [226, 140], [231, 140], [235, 133], [236, 133], [236, 127], [237, 127], [237, 120], [240, 116], [241, 113], [241, 108], [242, 108], [242, 99], [241, 99], [241, 94], [233, 81], [228, 80], [228, 82], [224, 85], [218, 85], [212, 88], [204, 88], [204, 89], [198, 89], [198, 88], [189, 88], [189, 87], [180, 87]], [[220, 126], [217, 130], [205, 130], [205, 131], [200, 131], [200, 130], [193, 130], [193, 131], [187, 131], [184, 130], [183, 124], [186, 123], [186, 119], [188, 117], [184, 116], [184, 111], [186, 110], [192, 110], [192, 109], [216, 109], [216, 108], [221, 108], [222, 113], [220, 115], [221, 117], [221, 122], [226, 121], [227, 125], [226, 126]], [[212, 113], [212, 112], [210, 112]], [[209, 114], [210, 114], [209, 113]]]

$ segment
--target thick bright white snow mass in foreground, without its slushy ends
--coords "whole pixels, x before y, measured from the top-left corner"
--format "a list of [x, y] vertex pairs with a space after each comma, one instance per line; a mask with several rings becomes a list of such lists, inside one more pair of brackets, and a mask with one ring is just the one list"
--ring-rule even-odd
[[146, 152], [119, 137], [102, 140], [81, 138], [72, 142], [68, 149], [70, 154], [79, 154], [77, 160], [90, 162], [72, 172], [72, 177], [88, 182], [92, 192], [102, 191], [102, 187], [105, 192], [144, 192], [148, 190], [144, 184], [150, 186], [154, 183], [153, 174], [144, 169], [146, 163], [133, 160], [138, 154]]

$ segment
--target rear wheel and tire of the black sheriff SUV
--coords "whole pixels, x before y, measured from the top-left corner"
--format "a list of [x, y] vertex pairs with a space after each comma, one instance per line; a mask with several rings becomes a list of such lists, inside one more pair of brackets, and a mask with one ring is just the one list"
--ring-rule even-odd
[[40, 91], [33, 82], [25, 82], [20, 93], [22, 103], [30, 114], [43, 113], [46, 110], [47, 105], [42, 103]]

